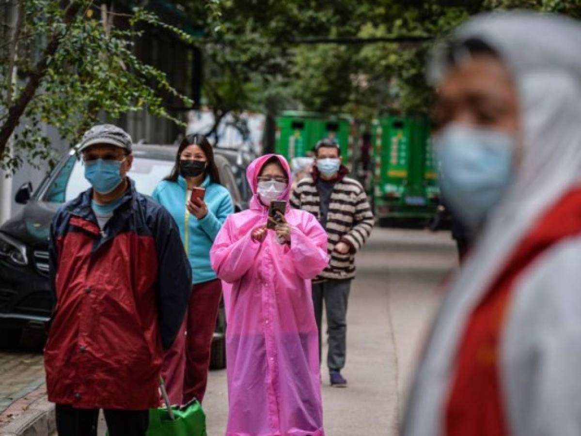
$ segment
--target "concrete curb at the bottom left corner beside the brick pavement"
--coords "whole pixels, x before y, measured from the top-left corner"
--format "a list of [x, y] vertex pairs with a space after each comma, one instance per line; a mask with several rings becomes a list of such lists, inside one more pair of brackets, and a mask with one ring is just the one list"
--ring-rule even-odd
[[0, 436], [50, 436], [55, 431], [55, 405], [40, 398], [22, 415], [0, 428]]

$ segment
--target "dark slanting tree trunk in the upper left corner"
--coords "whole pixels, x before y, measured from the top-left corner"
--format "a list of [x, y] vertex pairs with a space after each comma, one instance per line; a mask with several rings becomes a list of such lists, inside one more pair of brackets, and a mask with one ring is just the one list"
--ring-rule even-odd
[[[63, 23], [68, 25], [73, 21], [73, 19], [77, 16], [81, 8], [81, 2], [74, 1], [71, 5], [66, 9], [63, 17]], [[52, 38], [46, 45], [44, 52], [42, 53], [41, 59], [38, 61], [34, 70], [28, 76], [28, 82], [26, 87], [24, 87], [22, 93], [18, 97], [18, 99], [13, 103], [12, 106], [8, 108], [8, 117], [6, 117], [6, 121], [0, 128], [0, 157], [4, 155], [6, 150], [6, 144], [10, 139], [10, 135], [16, 129], [17, 125], [20, 122], [20, 118], [24, 114], [28, 103], [30, 100], [34, 98], [34, 94], [36, 93], [38, 87], [41, 84], [42, 78], [46, 75], [46, 68], [48, 67], [48, 60], [52, 57], [62, 39], [66, 37], [65, 34], [55, 33], [52, 35]]]

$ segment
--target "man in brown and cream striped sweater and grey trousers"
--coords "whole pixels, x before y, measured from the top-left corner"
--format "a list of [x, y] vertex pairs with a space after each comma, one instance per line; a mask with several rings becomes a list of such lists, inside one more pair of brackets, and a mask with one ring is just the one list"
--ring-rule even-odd
[[355, 254], [363, 247], [374, 225], [371, 207], [363, 186], [346, 177], [339, 145], [322, 139], [315, 146], [315, 166], [290, 196], [290, 205], [311, 212], [327, 231], [329, 265], [313, 280], [313, 304], [319, 329], [321, 357], [321, 317], [325, 302], [329, 336], [327, 366], [331, 385], [346, 387], [341, 375], [345, 366], [347, 300], [355, 277]]

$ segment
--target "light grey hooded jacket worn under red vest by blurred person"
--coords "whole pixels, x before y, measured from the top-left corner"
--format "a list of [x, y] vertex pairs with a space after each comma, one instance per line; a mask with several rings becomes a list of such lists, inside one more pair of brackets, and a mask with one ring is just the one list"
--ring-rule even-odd
[[[523, 156], [502, 203], [440, 308], [415, 376], [404, 436], [445, 434], [454, 356], [469, 315], [548, 207], [581, 183], [581, 26], [532, 12], [476, 17], [451, 36], [479, 38], [519, 93]], [[432, 79], [446, 69], [436, 51]], [[514, 436], [581, 434], [581, 237], [546, 251], [514, 284], [501, 333], [500, 380]], [[475, 392], [479, 395], [479, 392]], [[467, 435], [470, 436], [470, 435]]]

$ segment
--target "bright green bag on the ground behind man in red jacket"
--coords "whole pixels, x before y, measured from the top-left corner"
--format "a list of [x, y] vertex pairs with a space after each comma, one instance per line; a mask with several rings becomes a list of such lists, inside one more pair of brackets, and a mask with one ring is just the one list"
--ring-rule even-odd
[[167, 408], [149, 409], [148, 436], [206, 436], [206, 415], [194, 400], [179, 408], [172, 406], [174, 419]]

